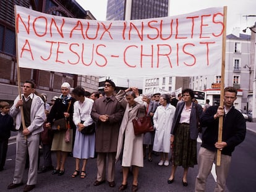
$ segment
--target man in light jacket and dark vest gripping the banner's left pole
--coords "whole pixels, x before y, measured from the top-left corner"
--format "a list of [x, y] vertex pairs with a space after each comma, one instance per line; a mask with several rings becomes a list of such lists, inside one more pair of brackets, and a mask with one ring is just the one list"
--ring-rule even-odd
[[[14, 180], [7, 186], [8, 190], [23, 185], [23, 173], [27, 152], [30, 165], [27, 185], [25, 185], [23, 191], [31, 191], [36, 185], [40, 133], [43, 131], [43, 123], [45, 122], [46, 115], [45, 102], [34, 92], [35, 83], [33, 80], [26, 80], [23, 85], [22, 98], [20, 99], [18, 96], [10, 109], [10, 115], [15, 118], [15, 128], [19, 131], [16, 138]], [[25, 123], [22, 123], [21, 107], [23, 107]], [[23, 127], [23, 124], [25, 127]]]

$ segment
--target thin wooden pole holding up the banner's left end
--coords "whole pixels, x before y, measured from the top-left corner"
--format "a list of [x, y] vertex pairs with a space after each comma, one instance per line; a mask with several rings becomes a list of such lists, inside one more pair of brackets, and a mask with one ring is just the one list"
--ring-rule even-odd
[[[15, 38], [16, 38], [16, 58], [17, 58], [17, 80], [18, 80], [18, 90], [19, 90], [19, 97], [22, 99], [21, 96], [21, 85], [20, 85], [20, 67], [19, 67], [19, 56], [18, 56], [18, 38], [17, 38], [17, 17], [16, 17], [16, 6], [14, 6], [14, 12], [15, 12]], [[23, 106], [20, 106], [20, 115], [22, 118], [22, 127], [23, 130], [25, 130], [25, 119], [24, 119], [24, 113], [23, 113]], [[25, 139], [27, 140], [27, 136], [25, 136]]]

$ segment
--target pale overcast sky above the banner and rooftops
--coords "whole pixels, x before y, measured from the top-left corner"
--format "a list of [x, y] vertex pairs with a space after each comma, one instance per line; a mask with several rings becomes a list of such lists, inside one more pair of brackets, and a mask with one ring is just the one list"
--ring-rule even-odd
[[[85, 10], [90, 10], [97, 20], [106, 20], [106, 5], [108, 0], [76, 0]], [[194, 12], [208, 7], [228, 6], [227, 35], [233, 28], [240, 27], [242, 30], [251, 27], [256, 22], [256, 17], [245, 17], [245, 15], [256, 15], [255, 0], [171, 0], [169, 15], [180, 15]], [[247, 30], [247, 34], [248, 34]]]

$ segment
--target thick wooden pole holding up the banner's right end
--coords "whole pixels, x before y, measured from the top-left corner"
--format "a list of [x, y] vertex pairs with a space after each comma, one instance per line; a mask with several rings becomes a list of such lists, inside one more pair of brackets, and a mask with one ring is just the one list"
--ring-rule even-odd
[[[222, 59], [221, 59], [221, 93], [220, 93], [220, 107], [223, 109], [224, 100], [224, 80], [225, 80], [225, 60], [226, 60], [226, 23], [227, 23], [227, 7], [223, 7], [223, 38], [222, 38]], [[219, 130], [218, 130], [218, 142], [222, 141], [222, 129], [223, 129], [223, 116], [219, 118]], [[216, 165], [221, 164], [221, 150], [217, 150]]]

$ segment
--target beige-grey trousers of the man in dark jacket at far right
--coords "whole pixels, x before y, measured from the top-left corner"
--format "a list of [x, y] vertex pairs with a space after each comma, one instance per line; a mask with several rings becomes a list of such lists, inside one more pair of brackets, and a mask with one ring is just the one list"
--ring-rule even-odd
[[[216, 161], [216, 158], [217, 152], [200, 148], [198, 152], [198, 175], [195, 178], [195, 191], [205, 191], [207, 177], [211, 172], [211, 167], [213, 166], [213, 162]], [[217, 175], [215, 192], [224, 191], [230, 163], [231, 156], [221, 154], [221, 165], [215, 167]]]

